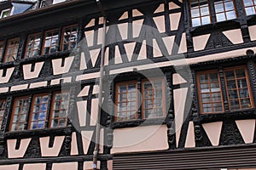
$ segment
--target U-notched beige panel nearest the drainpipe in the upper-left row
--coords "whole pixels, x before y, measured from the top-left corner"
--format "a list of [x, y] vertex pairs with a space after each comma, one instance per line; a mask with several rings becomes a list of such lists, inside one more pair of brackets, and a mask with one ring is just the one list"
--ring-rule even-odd
[[52, 59], [51, 63], [52, 63], [54, 75], [67, 73], [70, 70], [70, 67], [73, 63], [73, 59], [74, 59], [73, 56], [67, 57], [65, 59], [64, 66], [61, 66], [61, 60], [62, 59]]

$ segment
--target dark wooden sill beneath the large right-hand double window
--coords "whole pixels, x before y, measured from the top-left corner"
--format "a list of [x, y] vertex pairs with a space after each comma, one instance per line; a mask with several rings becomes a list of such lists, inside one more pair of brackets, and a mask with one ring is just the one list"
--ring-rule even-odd
[[244, 119], [255, 119], [256, 108], [245, 109], [238, 111], [226, 111], [218, 114], [201, 114], [200, 122], [220, 122], [224, 120], [244, 120]]

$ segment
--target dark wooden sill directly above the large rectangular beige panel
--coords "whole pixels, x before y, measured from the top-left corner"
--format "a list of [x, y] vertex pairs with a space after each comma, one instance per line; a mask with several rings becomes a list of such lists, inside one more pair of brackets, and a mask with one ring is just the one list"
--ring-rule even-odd
[[114, 128], [125, 128], [125, 127], [139, 127], [139, 126], [150, 126], [150, 125], [161, 125], [166, 124], [166, 118], [151, 118], [151, 119], [137, 119], [132, 121], [124, 122], [112, 122], [111, 127]]

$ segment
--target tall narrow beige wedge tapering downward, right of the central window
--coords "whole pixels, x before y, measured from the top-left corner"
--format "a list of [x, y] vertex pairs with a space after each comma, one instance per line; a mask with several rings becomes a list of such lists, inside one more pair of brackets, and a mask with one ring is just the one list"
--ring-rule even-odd
[[188, 88], [175, 89], [173, 90], [173, 93], [174, 93], [176, 144], [178, 146], [178, 142], [181, 134], [181, 128], [183, 126], [184, 111], [185, 111]]

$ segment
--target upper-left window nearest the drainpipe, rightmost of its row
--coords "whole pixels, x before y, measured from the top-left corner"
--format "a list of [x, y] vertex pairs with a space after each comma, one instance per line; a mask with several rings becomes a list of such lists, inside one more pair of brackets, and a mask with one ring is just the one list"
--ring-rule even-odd
[[63, 28], [61, 49], [69, 50], [75, 48], [78, 38], [78, 26], [67, 26]]

